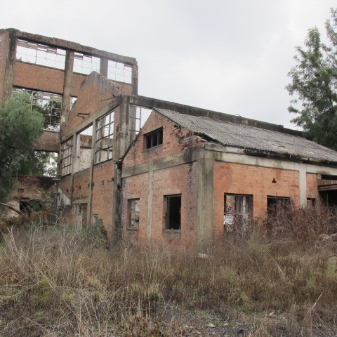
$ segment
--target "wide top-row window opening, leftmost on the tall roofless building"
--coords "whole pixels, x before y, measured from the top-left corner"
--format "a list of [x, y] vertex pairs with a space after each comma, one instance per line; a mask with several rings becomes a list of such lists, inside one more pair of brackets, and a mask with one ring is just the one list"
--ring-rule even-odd
[[65, 69], [65, 50], [37, 44], [35, 42], [18, 40], [16, 59], [34, 65], [45, 65], [57, 69]]

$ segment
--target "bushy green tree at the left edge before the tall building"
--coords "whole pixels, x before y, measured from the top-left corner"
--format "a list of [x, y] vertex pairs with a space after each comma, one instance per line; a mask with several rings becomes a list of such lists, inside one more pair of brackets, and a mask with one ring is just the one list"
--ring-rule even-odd
[[31, 110], [27, 95], [15, 93], [0, 103], [0, 201], [11, 192], [16, 174], [34, 171], [33, 149], [43, 132], [44, 118]]

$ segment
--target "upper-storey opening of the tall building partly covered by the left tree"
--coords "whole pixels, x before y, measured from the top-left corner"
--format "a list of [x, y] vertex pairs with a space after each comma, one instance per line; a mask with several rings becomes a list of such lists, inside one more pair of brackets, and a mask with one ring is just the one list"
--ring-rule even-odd
[[29, 95], [31, 108], [41, 112], [44, 116], [44, 128], [46, 130], [60, 130], [62, 95], [25, 88], [13, 88], [13, 95], [15, 95], [15, 92], [23, 92]]

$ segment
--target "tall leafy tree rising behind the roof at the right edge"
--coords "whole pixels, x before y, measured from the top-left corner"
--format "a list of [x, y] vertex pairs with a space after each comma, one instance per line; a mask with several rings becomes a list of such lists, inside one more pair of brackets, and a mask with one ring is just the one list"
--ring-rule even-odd
[[291, 121], [309, 139], [337, 150], [337, 8], [331, 8], [326, 34], [329, 46], [316, 27], [308, 30], [305, 46], [296, 47], [286, 89], [293, 96], [289, 112], [298, 114]]

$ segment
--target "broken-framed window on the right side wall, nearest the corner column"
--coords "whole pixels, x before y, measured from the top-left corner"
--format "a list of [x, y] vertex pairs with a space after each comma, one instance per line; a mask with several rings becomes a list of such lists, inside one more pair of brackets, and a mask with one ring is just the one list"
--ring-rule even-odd
[[251, 219], [252, 195], [225, 194], [223, 224], [225, 230], [246, 230]]

